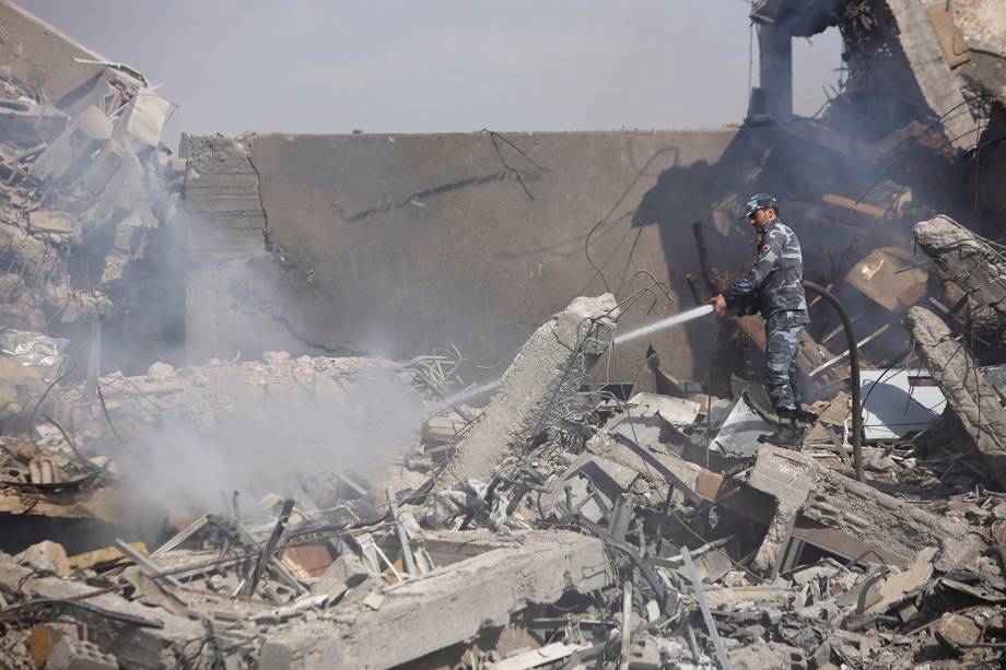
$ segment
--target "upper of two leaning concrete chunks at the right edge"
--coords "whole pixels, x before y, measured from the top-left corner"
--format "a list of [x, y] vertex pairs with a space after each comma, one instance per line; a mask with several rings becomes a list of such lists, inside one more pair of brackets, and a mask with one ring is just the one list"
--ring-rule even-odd
[[915, 224], [915, 242], [943, 272], [1001, 319], [1006, 319], [1006, 262], [1002, 255], [949, 216]]

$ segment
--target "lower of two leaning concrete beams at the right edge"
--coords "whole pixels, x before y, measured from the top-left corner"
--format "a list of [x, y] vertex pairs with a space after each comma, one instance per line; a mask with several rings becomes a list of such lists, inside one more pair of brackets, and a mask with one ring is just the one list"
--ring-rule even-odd
[[1006, 410], [998, 392], [943, 319], [924, 307], [912, 307], [908, 319], [929, 374], [985, 457], [992, 475], [1006, 485]]

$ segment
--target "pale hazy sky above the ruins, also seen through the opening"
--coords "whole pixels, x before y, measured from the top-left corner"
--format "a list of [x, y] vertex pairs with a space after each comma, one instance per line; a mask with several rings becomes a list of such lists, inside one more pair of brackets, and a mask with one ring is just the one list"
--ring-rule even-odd
[[[712, 127], [747, 108], [744, 0], [21, 4], [163, 84], [172, 149], [180, 132]], [[798, 113], [840, 52], [834, 30], [794, 43]]]

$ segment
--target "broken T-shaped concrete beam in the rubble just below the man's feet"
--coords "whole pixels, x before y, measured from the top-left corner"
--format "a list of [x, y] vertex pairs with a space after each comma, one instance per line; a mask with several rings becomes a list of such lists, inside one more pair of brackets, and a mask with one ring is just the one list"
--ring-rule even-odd
[[935, 565], [945, 571], [962, 568], [982, 549], [954, 521], [788, 449], [762, 447], [748, 485], [776, 501], [775, 517], [753, 563], [765, 573], [779, 571], [792, 541], [902, 569], [926, 548], [937, 550]]

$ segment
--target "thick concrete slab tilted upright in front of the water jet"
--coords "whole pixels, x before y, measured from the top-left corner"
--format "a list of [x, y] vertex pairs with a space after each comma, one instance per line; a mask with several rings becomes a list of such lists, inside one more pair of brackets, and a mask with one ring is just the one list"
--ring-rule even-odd
[[510, 452], [527, 448], [536, 433], [568, 415], [590, 367], [610, 345], [618, 315], [610, 293], [578, 297], [538, 328], [458, 443], [448, 477], [488, 481]]

